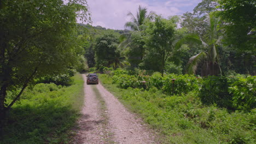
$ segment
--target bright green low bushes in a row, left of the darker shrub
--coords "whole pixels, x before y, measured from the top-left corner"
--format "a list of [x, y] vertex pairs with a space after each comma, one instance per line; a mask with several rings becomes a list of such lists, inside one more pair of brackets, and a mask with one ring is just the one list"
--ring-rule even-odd
[[[173, 83], [171, 79], [176, 79], [174, 82], [174, 93], [188, 93], [190, 91], [199, 91], [202, 79], [198, 79], [193, 75], [175, 75], [169, 74], [164, 77], [159, 72], [152, 76], [144, 75], [146, 71], [140, 71], [135, 75], [129, 75], [126, 70], [112, 71], [113, 83], [116, 83], [120, 88], [157, 88], [167, 94], [172, 94]], [[146, 81], [145, 84], [142, 81]]]

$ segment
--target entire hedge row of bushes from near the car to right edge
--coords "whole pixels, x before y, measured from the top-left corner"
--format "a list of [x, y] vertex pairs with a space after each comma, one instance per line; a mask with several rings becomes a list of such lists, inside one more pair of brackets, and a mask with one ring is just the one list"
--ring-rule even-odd
[[[114, 70], [111, 75], [119, 88], [157, 88], [168, 95], [195, 92], [206, 105], [216, 104], [232, 111], [255, 108], [255, 76], [208, 76], [202, 79], [188, 74], [161, 76], [159, 72], [149, 76], [143, 70], [130, 73], [123, 69]], [[175, 79], [174, 83], [172, 79]]]

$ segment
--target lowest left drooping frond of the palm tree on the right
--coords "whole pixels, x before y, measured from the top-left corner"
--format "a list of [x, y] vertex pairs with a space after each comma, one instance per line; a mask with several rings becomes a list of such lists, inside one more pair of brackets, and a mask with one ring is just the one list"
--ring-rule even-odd
[[205, 59], [207, 57], [205, 52], [200, 52], [197, 55], [189, 58], [188, 66], [187, 66], [187, 73], [188, 74], [195, 74], [195, 71], [197, 69], [197, 65], [202, 59]]

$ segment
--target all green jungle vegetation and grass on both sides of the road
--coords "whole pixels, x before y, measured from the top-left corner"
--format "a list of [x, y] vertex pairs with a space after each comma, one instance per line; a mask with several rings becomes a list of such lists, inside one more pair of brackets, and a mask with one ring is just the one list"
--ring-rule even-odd
[[255, 5], [139, 6], [115, 30], [91, 26], [85, 0], [0, 1], [0, 143], [69, 143], [86, 71], [163, 143], [255, 143]]

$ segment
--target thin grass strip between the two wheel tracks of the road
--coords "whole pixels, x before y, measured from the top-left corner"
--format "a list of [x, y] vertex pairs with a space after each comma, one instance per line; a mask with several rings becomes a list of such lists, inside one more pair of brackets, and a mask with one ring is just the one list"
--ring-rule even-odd
[[102, 95], [100, 93], [100, 91], [98, 91], [96, 85], [92, 86], [92, 90], [94, 91], [95, 95], [96, 95], [96, 99], [99, 101], [99, 108], [101, 110], [101, 116], [103, 119], [103, 141], [104, 143], [114, 143], [113, 141], [113, 136], [114, 134], [111, 131], [107, 131], [108, 129], [108, 113], [107, 113], [107, 106], [106, 103], [104, 101], [104, 99], [102, 98]]

